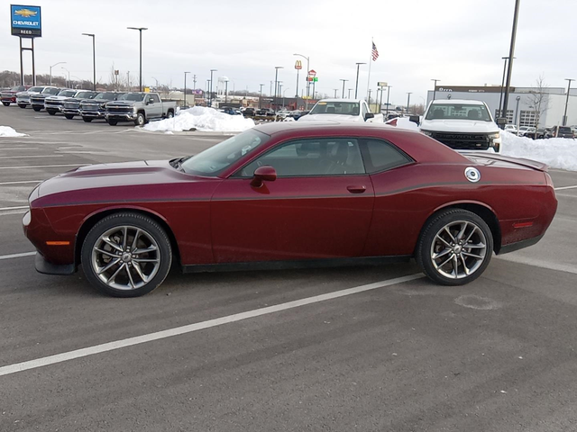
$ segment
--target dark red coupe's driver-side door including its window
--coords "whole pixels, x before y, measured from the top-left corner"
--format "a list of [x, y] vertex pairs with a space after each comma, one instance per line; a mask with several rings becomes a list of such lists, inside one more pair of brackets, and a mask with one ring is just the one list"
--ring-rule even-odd
[[[251, 185], [258, 166], [275, 181]], [[216, 263], [359, 257], [374, 193], [357, 139], [295, 139], [257, 157], [211, 201]]]

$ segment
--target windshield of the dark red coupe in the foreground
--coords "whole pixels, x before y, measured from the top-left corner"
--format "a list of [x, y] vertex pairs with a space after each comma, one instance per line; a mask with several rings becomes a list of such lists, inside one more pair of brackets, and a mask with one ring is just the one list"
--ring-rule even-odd
[[246, 130], [188, 158], [182, 169], [188, 174], [216, 176], [269, 139], [269, 135], [258, 130]]

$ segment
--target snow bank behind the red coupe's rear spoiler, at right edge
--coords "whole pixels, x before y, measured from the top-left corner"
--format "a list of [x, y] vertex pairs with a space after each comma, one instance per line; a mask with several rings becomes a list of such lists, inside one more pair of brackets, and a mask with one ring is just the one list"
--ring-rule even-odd
[[552, 168], [577, 171], [577, 140], [566, 138], [530, 139], [501, 130], [502, 154], [543, 162]]

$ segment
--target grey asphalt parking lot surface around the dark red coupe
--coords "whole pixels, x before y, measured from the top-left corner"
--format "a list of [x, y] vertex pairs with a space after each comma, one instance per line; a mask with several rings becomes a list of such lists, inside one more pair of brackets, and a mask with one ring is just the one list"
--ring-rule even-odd
[[[74, 166], [222, 139], [0, 107], [0, 431], [577, 430], [577, 173], [545, 238], [442, 287], [414, 263], [169, 275], [136, 299], [34, 271], [21, 219]], [[86, 348], [86, 349], [85, 349]]]

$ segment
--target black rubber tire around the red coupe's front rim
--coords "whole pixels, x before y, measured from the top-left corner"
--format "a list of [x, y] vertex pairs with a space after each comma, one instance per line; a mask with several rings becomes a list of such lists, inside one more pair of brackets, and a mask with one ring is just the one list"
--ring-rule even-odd
[[[105, 281], [103, 281], [100, 278], [100, 276], [96, 274], [95, 266], [97, 266], [97, 262], [96, 264], [94, 264], [92, 256], [92, 251], [94, 247], [100, 241], [101, 236], [103, 236], [106, 233], [106, 231], [109, 231], [116, 227], [124, 227], [124, 226], [130, 226], [136, 229], [140, 229], [141, 232], [144, 233], [144, 235], [153, 238], [156, 244], [158, 245], [157, 251], [153, 252], [153, 254], [158, 254], [155, 255], [155, 257], [160, 258], [160, 264], [158, 266], [158, 269], [155, 275], [152, 275], [151, 280], [148, 282], [144, 282], [144, 280], [140, 278], [140, 276], [138, 276], [138, 273], [134, 268], [134, 266], [136, 265], [133, 264], [132, 259], [130, 261], [130, 264], [125, 264], [124, 269], [121, 269], [118, 273], [118, 276], [114, 278], [113, 281], [114, 284], [116, 283], [118, 277], [124, 277], [124, 281], [128, 281], [129, 275], [127, 275], [126, 272], [131, 272], [131, 269], [133, 270], [131, 272], [131, 275], [133, 275], [134, 283], [138, 281], [140, 281], [138, 282], [139, 284], [144, 282], [144, 284], [140, 287], [125, 290], [118, 289], [113, 286], [110, 286], [109, 284], [106, 284]], [[130, 230], [128, 232], [130, 232]], [[141, 234], [141, 236], [143, 236], [143, 234]], [[112, 238], [112, 235], [110, 237]], [[132, 244], [130, 235], [128, 235], [127, 238], [128, 238], [127, 245]], [[102, 293], [111, 295], [113, 297], [139, 297], [141, 295], [151, 293], [151, 291], [157, 288], [160, 284], [162, 284], [164, 279], [166, 279], [166, 276], [169, 275], [170, 266], [172, 264], [172, 249], [170, 247], [170, 240], [164, 229], [162, 229], [162, 227], [160, 227], [160, 225], [155, 220], [152, 220], [148, 216], [130, 211], [111, 214], [109, 216], [106, 216], [103, 220], [97, 222], [96, 225], [92, 229], [90, 229], [90, 231], [87, 234], [87, 237], [84, 239], [81, 254], [82, 254], [81, 255], [82, 269], [84, 271], [84, 274], [87, 276], [88, 282], [90, 282], [90, 284], [92, 284], [94, 287], [96, 287], [96, 289], [98, 289]], [[99, 254], [99, 258], [97, 259], [102, 259], [103, 257], [106, 256]], [[110, 261], [115, 258], [112, 259], [108, 258], [108, 259], [109, 259], [108, 263], [106, 262], [102, 263], [103, 266], [109, 264]], [[123, 264], [124, 261], [122, 259], [118, 261], [118, 263], [119, 265], [122, 264], [124, 266]], [[139, 268], [142, 268], [142, 272], [145, 273], [146, 263], [141, 264], [141, 266], [142, 267], [139, 266]], [[111, 267], [110, 270], [108, 270], [108, 273], [113, 273], [117, 269], [118, 265], [115, 265]], [[112, 275], [108, 275], [107, 273], [105, 273], [103, 277], [112, 278]]]

